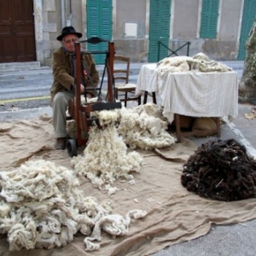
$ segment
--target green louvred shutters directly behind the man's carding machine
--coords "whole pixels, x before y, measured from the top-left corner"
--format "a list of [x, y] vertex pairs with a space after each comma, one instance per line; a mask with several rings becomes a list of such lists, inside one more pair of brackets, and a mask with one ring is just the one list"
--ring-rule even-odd
[[[87, 38], [112, 38], [112, 0], [87, 0]], [[88, 50], [107, 50], [108, 43], [88, 44]], [[105, 55], [95, 55], [96, 64], [103, 64]]]

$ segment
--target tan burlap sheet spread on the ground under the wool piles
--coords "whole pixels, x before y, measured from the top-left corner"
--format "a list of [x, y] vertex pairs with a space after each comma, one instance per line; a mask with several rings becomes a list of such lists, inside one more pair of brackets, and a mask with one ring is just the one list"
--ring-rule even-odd
[[[54, 132], [50, 119], [12, 120], [0, 125], [0, 170], [12, 170], [26, 160], [52, 160], [70, 166], [67, 151], [54, 150]], [[132, 219], [127, 236], [102, 237], [96, 252], [84, 251], [84, 235], [77, 234], [66, 247], [51, 250], [33, 249], [10, 252], [6, 236], [0, 239], [0, 255], [132, 255], [155, 253], [172, 244], [189, 241], [207, 234], [211, 224], [236, 224], [256, 217], [256, 201], [222, 202], [201, 198], [183, 188], [180, 177], [183, 162], [197, 147], [189, 140], [171, 148], [154, 151], [139, 150], [145, 166], [135, 174], [136, 183], [117, 181], [115, 195], [94, 189], [81, 178], [85, 195], [96, 196], [97, 201], [111, 201], [114, 213], [125, 215], [132, 209], [142, 209], [148, 215]]]

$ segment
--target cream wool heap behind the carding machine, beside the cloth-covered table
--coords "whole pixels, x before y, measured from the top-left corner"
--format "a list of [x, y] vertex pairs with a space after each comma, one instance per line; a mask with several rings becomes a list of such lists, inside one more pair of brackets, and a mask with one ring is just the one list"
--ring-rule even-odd
[[[162, 112], [162, 107], [149, 102], [133, 108], [92, 112], [90, 116], [99, 118], [101, 125], [115, 123], [119, 135], [129, 148], [149, 150], [169, 147], [176, 142], [176, 138], [166, 131], [168, 120]], [[69, 137], [76, 137], [74, 120], [67, 121], [67, 134]], [[86, 137], [83, 131], [82, 137]]]

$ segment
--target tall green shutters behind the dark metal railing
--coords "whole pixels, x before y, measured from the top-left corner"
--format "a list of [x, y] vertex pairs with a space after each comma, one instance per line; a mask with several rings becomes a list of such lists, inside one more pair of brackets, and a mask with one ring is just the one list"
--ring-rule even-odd
[[157, 62], [168, 55], [168, 49], [160, 46], [161, 41], [169, 47], [171, 0], [150, 0], [148, 62]]

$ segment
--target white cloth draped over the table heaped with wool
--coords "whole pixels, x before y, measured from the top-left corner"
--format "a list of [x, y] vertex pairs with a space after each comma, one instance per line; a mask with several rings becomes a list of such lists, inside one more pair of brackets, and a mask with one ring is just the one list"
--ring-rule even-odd
[[155, 92], [160, 96], [163, 115], [172, 123], [174, 113], [190, 117], [235, 119], [238, 113], [238, 79], [234, 71], [162, 73], [156, 63], [143, 65], [136, 94]]

